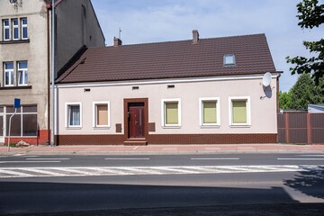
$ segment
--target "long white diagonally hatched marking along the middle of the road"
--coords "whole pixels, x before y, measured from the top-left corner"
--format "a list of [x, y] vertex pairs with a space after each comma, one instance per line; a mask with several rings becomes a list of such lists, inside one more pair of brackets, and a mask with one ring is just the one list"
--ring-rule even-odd
[[0, 167], [0, 178], [117, 175], [197, 175], [324, 171], [324, 166], [78, 166]]

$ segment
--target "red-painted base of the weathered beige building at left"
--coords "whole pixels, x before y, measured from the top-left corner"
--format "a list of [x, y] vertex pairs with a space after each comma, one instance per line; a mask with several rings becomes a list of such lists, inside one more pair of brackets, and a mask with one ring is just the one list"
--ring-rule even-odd
[[[17, 143], [20, 140], [23, 140], [31, 145], [44, 145], [48, 143], [49, 140], [49, 131], [50, 130], [39, 130], [38, 136], [36, 137], [11, 137], [10, 142], [11, 143]], [[8, 143], [8, 138], [6, 137], [4, 139], [4, 142]]]

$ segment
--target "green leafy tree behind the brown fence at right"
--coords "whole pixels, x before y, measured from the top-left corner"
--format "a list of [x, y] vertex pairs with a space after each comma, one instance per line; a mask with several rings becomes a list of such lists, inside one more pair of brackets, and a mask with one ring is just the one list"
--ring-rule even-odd
[[290, 90], [292, 109], [307, 109], [308, 104], [319, 103], [318, 87], [310, 74], [302, 74]]

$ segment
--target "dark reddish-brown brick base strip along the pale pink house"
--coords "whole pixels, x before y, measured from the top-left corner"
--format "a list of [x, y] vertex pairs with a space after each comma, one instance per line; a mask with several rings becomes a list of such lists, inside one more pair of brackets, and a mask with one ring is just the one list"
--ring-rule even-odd
[[[149, 134], [148, 144], [276, 143], [277, 134]], [[123, 145], [124, 135], [59, 135], [58, 145]]]

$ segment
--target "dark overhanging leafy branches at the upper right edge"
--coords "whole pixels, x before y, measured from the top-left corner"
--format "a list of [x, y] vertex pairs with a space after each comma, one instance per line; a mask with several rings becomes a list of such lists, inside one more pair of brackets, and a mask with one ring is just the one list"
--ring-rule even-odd
[[[297, 10], [297, 17], [301, 21], [298, 25], [302, 29], [312, 29], [324, 23], [324, 4], [319, 4], [318, 0], [302, 0], [297, 4]], [[287, 57], [288, 63], [296, 64], [295, 67], [290, 68], [290, 71], [292, 75], [309, 73], [314, 77], [316, 85], [319, 85], [320, 77], [324, 76], [324, 39], [302, 43], [315, 56], [311, 58]]]

